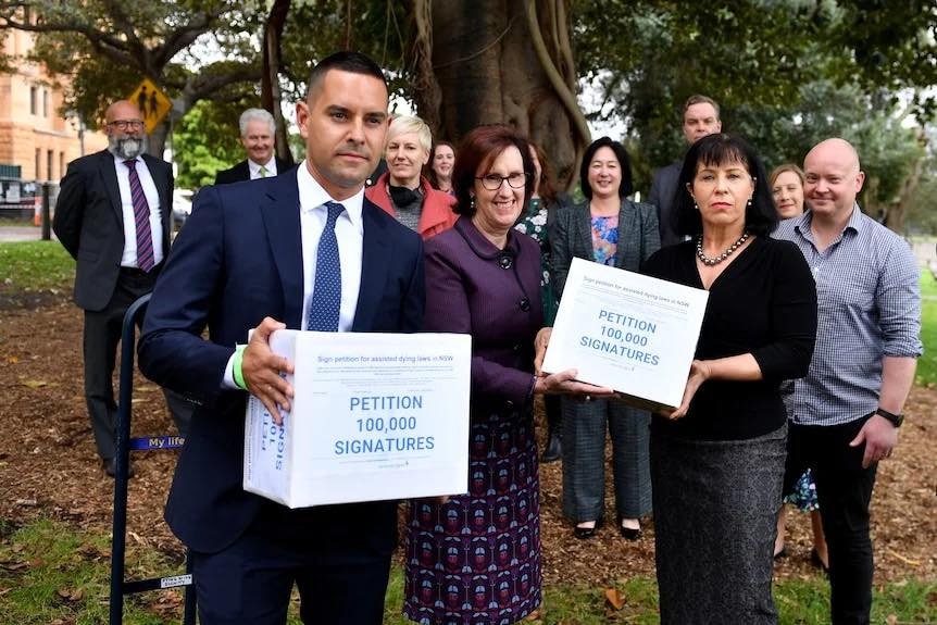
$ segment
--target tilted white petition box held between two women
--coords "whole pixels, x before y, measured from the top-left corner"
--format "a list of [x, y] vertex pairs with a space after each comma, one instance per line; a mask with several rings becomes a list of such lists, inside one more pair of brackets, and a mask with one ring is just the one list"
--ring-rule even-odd
[[544, 371], [613, 388], [651, 410], [680, 404], [709, 292], [573, 259]]

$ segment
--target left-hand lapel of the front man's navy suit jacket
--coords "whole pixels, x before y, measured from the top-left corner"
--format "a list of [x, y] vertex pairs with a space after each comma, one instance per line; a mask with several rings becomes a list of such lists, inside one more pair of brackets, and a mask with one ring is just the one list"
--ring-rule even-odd
[[295, 176], [272, 180], [261, 204], [267, 243], [283, 285], [284, 323], [302, 328], [302, 233], [299, 223], [299, 187]]

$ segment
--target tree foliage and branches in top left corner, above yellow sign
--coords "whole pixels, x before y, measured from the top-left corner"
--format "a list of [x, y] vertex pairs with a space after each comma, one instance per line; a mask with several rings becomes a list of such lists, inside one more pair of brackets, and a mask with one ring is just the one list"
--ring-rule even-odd
[[[18, 7], [40, 18], [23, 24]], [[95, 128], [107, 104], [128, 96], [143, 77], [180, 98], [183, 110], [202, 98], [249, 92], [260, 75], [255, 35], [265, 7], [254, 0], [27, 0], [0, 3], [0, 29], [36, 33], [28, 59], [67, 78], [63, 110], [79, 112]]]

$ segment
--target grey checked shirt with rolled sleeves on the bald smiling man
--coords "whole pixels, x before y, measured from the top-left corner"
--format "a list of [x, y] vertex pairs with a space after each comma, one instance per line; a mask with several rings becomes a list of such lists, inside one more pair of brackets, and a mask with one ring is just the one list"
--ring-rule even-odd
[[811, 220], [807, 212], [772, 234], [800, 248], [816, 280], [813, 361], [785, 405], [794, 423], [838, 425], [878, 407], [883, 357], [923, 353], [919, 270], [908, 243], [858, 204], [823, 252], [813, 242]]

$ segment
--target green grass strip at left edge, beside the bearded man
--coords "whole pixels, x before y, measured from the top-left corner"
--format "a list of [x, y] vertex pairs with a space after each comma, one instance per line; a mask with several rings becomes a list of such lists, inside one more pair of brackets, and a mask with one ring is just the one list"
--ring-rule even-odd
[[59, 241], [0, 243], [0, 287], [62, 290], [75, 278], [75, 261]]

